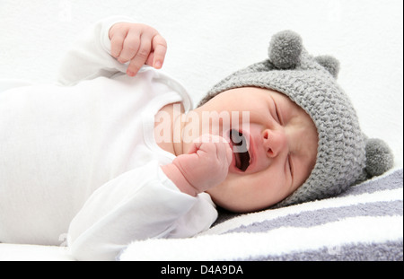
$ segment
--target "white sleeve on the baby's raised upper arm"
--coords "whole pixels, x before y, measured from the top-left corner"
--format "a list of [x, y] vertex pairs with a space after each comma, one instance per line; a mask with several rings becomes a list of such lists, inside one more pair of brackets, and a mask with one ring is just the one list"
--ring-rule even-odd
[[110, 56], [110, 27], [117, 22], [133, 22], [130, 18], [114, 16], [94, 23], [79, 35], [62, 58], [57, 83], [74, 85], [98, 76], [111, 77], [125, 73], [126, 64]]

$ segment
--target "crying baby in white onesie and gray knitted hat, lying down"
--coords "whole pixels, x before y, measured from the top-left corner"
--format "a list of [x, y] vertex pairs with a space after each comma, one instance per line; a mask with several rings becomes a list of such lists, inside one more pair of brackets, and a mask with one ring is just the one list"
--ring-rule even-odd
[[[111, 260], [130, 241], [207, 230], [215, 206], [253, 212], [338, 195], [392, 166], [292, 31], [196, 109], [160, 69], [167, 45], [109, 18], [68, 51], [57, 84], [0, 83], [0, 241]], [[17, 86], [19, 85], [19, 86]]]

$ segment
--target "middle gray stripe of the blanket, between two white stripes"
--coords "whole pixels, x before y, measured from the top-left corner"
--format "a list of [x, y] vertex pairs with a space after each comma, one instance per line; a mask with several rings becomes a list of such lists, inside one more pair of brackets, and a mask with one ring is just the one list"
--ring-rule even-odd
[[[359, 205], [324, 208], [315, 211], [289, 214], [273, 220], [254, 222], [250, 225], [242, 225], [229, 232], [264, 232], [280, 227], [312, 227], [327, 222], [336, 222], [340, 219], [356, 216], [390, 216], [403, 215], [403, 201], [375, 202]], [[224, 234], [223, 233], [223, 234]]]

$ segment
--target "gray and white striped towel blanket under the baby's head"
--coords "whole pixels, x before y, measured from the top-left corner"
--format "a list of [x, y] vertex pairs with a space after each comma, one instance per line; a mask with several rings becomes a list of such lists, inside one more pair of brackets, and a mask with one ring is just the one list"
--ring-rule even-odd
[[403, 170], [320, 201], [220, 214], [190, 239], [131, 243], [120, 260], [403, 260]]

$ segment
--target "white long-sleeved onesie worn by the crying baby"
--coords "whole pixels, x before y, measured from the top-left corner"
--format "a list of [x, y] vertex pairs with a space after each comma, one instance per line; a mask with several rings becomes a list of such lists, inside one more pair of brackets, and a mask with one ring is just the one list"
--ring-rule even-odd
[[67, 240], [77, 259], [110, 260], [131, 241], [190, 237], [215, 222], [210, 196], [165, 176], [175, 156], [154, 141], [154, 115], [178, 101], [191, 109], [189, 96], [152, 67], [125, 74], [108, 37], [124, 21], [84, 32], [57, 84], [0, 83], [0, 242]]

